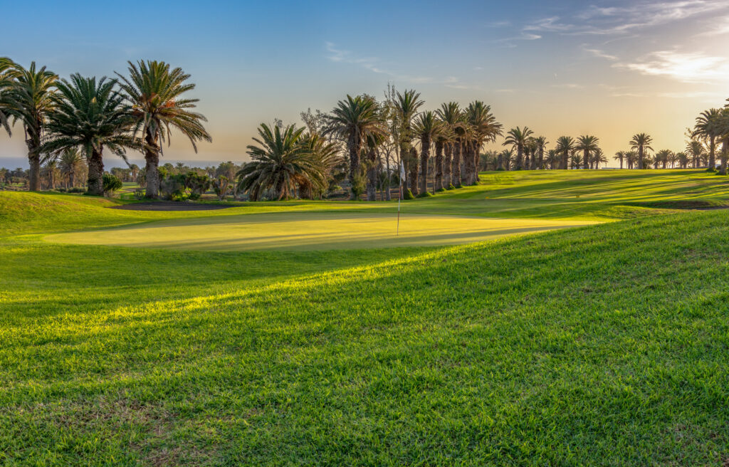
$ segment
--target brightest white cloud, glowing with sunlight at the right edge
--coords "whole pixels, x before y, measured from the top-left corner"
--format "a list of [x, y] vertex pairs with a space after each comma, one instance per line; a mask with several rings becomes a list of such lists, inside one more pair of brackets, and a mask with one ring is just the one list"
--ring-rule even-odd
[[613, 66], [689, 83], [722, 81], [729, 75], [729, 63], [726, 58], [704, 55], [701, 52], [660, 50], [641, 60], [615, 63]]

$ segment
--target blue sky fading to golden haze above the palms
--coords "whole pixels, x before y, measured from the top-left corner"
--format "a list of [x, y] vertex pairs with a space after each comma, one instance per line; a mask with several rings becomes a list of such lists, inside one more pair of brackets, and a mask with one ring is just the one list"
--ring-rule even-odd
[[[114, 76], [150, 59], [191, 74], [213, 142], [195, 154], [174, 134], [171, 162], [248, 160], [261, 122], [300, 125], [300, 111], [381, 97], [388, 83], [418, 90], [424, 109], [484, 101], [505, 129], [526, 125], [552, 144], [593, 134], [609, 155], [643, 132], [656, 150], [682, 150], [698, 113], [729, 98], [726, 0], [39, 0], [32, 15], [20, 1], [0, 6], [13, 18], [0, 55], [23, 66]], [[0, 158], [24, 154], [22, 128], [0, 133]], [[106, 166], [122, 165], [115, 158]]]

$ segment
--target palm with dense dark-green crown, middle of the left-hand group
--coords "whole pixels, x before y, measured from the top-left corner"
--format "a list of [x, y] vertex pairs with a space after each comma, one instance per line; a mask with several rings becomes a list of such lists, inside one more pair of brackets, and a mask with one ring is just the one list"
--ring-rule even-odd
[[48, 119], [48, 137], [42, 151], [58, 153], [81, 148], [88, 162], [88, 193], [104, 195], [104, 148], [126, 159], [125, 149], [139, 149], [128, 133], [133, 125], [124, 98], [114, 90], [116, 81], [71, 75], [56, 83], [55, 111]]

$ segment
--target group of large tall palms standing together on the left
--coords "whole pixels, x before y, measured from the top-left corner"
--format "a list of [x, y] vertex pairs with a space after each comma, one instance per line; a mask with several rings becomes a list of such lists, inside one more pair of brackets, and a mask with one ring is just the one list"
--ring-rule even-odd
[[78, 151], [87, 166], [90, 195], [103, 195], [104, 154], [122, 158], [126, 150], [144, 153], [146, 195], [157, 197], [157, 170], [163, 144], [179, 130], [197, 151], [198, 141], [211, 141], [197, 99], [186, 98], [195, 85], [190, 75], [167, 63], [128, 63], [128, 75], [101, 79], [73, 74], [60, 79], [45, 67], [23, 68], [0, 58], [0, 125], [12, 136], [20, 122], [28, 148], [29, 189], [41, 188], [41, 166]]

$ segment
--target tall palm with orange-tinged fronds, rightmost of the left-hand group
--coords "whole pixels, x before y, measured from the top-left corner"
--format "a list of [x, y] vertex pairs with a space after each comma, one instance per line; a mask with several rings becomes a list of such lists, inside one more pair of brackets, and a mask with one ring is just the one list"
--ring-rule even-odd
[[195, 109], [198, 99], [182, 98], [182, 95], [195, 89], [187, 82], [189, 74], [182, 68], [170, 69], [168, 63], [156, 60], [139, 60], [136, 65], [129, 63], [129, 77], [120, 77], [120, 87], [131, 106], [135, 119], [134, 134], [141, 132], [144, 140], [144, 160], [147, 162], [145, 173], [147, 189], [145, 196], [159, 196], [160, 174], [157, 170], [162, 155], [162, 144], [170, 144], [171, 130], [175, 128], [190, 139], [192, 149], [198, 152], [198, 141], [212, 141], [203, 127], [207, 119], [191, 109]]

